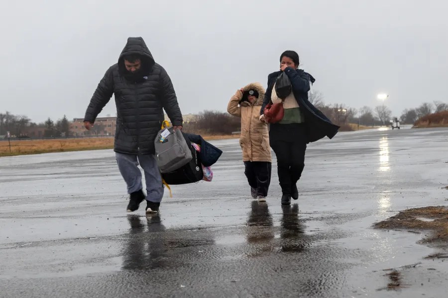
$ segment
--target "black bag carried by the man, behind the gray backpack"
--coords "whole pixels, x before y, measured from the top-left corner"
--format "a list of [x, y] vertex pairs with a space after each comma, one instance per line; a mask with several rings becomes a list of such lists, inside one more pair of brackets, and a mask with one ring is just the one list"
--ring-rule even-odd
[[162, 173], [162, 178], [167, 184], [179, 185], [196, 183], [204, 178], [204, 172], [202, 171], [201, 157], [196, 149], [191, 146], [190, 150], [193, 158], [186, 165], [168, 173]]

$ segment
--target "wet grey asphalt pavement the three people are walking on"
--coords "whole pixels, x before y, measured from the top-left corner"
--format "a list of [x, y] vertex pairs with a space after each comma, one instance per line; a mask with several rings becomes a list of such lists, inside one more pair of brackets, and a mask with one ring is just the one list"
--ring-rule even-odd
[[[446, 205], [448, 129], [339, 133], [310, 144], [300, 197], [250, 198], [237, 140], [213, 182], [127, 214], [112, 150], [0, 158], [0, 297], [446, 297], [424, 233], [371, 227]], [[403, 288], [386, 290], [384, 269]]]

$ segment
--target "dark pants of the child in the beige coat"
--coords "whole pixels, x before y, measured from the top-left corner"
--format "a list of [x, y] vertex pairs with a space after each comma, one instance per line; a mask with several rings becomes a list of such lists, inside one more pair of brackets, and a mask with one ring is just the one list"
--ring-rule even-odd
[[247, 182], [257, 190], [259, 196], [266, 197], [271, 184], [272, 163], [268, 161], [244, 161]]

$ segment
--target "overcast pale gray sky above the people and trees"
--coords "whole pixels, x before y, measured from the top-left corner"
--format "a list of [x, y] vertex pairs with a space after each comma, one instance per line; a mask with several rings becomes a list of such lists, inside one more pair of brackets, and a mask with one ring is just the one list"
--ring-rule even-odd
[[[171, 76], [182, 113], [225, 111], [237, 88], [299, 53], [327, 103], [394, 115], [448, 102], [446, 0], [27, 0], [0, 11], [0, 111], [84, 117], [129, 36]], [[112, 100], [100, 116], [115, 115]]]

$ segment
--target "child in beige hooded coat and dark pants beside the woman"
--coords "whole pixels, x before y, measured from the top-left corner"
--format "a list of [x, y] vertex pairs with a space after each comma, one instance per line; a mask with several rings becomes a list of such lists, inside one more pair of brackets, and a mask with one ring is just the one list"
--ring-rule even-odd
[[271, 149], [267, 124], [259, 119], [264, 99], [260, 83], [250, 83], [236, 91], [227, 105], [227, 112], [241, 118], [241, 137], [245, 175], [252, 198], [265, 202], [271, 183]]

